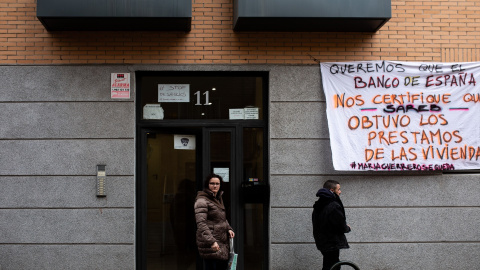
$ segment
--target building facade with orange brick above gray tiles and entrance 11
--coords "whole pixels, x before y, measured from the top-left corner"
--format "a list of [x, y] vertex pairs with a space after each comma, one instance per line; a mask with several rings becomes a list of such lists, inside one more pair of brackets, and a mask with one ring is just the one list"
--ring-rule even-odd
[[[320, 62], [480, 61], [480, 1], [387, 2], [391, 18], [361, 31], [346, 18], [249, 21], [230, 0], [92, 31], [78, 25], [108, 22], [47, 30], [45, 2], [0, 1], [0, 268], [201, 269], [187, 202], [211, 171], [229, 178], [239, 269], [321, 267], [311, 212], [327, 179], [341, 183], [352, 227], [342, 259], [480, 268], [477, 171], [333, 169]], [[147, 27], [172, 22], [184, 28]], [[128, 98], [112, 98], [112, 74], [130, 76]], [[159, 85], [188, 85], [190, 99], [160, 102]], [[161, 117], [145, 113], [152, 104]]]

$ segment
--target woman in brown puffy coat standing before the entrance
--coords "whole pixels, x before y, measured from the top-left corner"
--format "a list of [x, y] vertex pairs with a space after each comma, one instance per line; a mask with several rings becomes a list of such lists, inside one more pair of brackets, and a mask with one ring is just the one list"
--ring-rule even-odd
[[209, 175], [205, 179], [203, 191], [199, 191], [195, 199], [197, 246], [200, 257], [204, 259], [205, 270], [227, 268], [229, 238], [235, 236], [227, 221], [222, 199], [223, 191], [220, 191], [221, 183], [221, 176]]

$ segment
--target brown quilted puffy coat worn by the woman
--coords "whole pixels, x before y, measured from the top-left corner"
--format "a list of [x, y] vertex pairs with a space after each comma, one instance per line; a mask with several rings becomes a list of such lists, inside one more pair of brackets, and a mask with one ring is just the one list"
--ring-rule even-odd
[[[197, 222], [197, 246], [200, 257], [204, 259], [228, 260], [230, 252], [228, 224], [225, 206], [222, 200], [223, 191], [213, 196], [208, 189], [199, 191], [195, 199], [195, 220]], [[233, 230], [232, 230], [233, 231]], [[212, 249], [217, 242], [220, 250]]]

